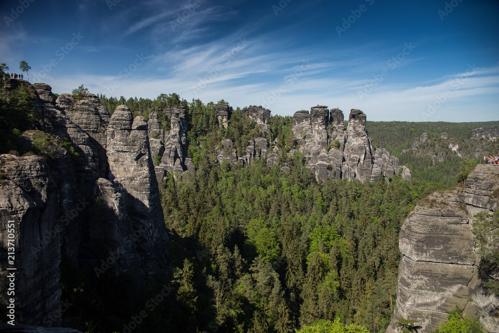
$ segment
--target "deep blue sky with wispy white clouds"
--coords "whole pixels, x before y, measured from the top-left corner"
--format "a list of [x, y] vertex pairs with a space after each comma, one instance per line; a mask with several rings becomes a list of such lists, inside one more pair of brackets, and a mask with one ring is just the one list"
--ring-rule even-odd
[[3, 0], [0, 14], [0, 61], [55, 93], [499, 119], [496, 0]]

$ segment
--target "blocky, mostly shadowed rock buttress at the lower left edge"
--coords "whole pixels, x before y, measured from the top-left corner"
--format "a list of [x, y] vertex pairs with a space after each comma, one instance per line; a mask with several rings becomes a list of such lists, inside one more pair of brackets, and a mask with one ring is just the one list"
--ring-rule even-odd
[[[60, 318], [61, 250], [56, 182], [50, 167], [38, 156], [0, 155], [0, 168], [7, 178], [0, 195], [2, 290], [8, 286], [8, 274], [14, 272], [18, 320], [37, 324], [48, 316]], [[9, 229], [14, 229], [16, 271], [6, 270], [10, 267], [7, 249], [12, 246], [8, 244]], [[43, 250], [36, 246], [40, 242], [45, 245]]]

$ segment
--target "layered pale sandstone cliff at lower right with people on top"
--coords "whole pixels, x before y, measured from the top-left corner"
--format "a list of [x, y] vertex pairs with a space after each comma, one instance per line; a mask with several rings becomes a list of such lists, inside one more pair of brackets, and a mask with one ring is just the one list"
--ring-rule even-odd
[[[400, 231], [397, 303], [387, 333], [399, 332], [404, 317], [431, 332], [447, 320], [456, 304], [480, 318], [487, 330], [499, 331], [499, 300], [483, 288], [484, 274], [475, 252], [473, 215], [498, 208], [499, 168], [478, 165], [466, 186], [439, 191], [418, 203]], [[496, 191], [496, 192], [494, 192]], [[496, 274], [496, 275], [494, 275]]]

